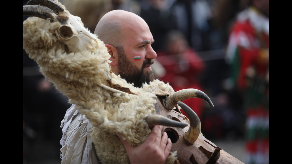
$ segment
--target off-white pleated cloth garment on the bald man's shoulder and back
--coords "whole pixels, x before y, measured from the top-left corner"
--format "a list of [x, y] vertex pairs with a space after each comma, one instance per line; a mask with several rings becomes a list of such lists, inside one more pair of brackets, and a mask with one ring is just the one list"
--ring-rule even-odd
[[91, 139], [91, 123], [75, 109], [66, 111], [61, 121], [63, 136], [60, 140], [62, 164], [99, 164]]

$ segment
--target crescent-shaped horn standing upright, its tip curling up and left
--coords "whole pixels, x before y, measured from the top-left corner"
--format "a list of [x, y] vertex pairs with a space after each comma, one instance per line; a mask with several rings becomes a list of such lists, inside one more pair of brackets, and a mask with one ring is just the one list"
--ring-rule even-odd
[[184, 139], [188, 143], [193, 144], [201, 133], [200, 118], [189, 106], [187, 106], [183, 102], [178, 101], [178, 105], [181, 107], [181, 109], [184, 110], [184, 112], [188, 115], [188, 118], [190, 120], [190, 128], [185, 133]]

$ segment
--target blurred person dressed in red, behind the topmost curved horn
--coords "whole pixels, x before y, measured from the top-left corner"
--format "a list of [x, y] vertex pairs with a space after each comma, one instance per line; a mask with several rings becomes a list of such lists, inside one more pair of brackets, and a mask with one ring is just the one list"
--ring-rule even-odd
[[[198, 78], [204, 70], [205, 64], [196, 51], [189, 46], [181, 32], [170, 31], [168, 33], [165, 49], [164, 51], [157, 51], [156, 59], [166, 70], [166, 74], [158, 78], [164, 82], [169, 82], [175, 91], [195, 88], [204, 92]], [[183, 102], [201, 118], [203, 101], [199, 98], [192, 98]], [[182, 111], [182, 113], [184, 112]]]

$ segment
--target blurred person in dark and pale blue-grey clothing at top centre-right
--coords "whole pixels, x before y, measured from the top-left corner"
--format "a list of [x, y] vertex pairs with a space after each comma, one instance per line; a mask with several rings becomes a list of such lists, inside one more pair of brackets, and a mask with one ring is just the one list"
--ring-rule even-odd
[[208, 21], [212, 18], [209, 3], [206, 0], [176, 0], [171, 12], [190, 47], [196, 51], [209, 50]]

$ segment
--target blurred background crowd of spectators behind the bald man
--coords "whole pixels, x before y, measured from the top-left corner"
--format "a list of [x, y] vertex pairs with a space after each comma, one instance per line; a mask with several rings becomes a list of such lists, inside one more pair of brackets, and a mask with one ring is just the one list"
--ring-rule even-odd
[[[155, 40], [156, 78], [175, 91], [202, 90], [215, 105], [184, 101], [201, 119], [205, 137], [242, 139], [244, 163], [269, 163], [269, 0], [59, 1], [92, 33], [110, 10], [140, 15]], [[23, 158], [32, 156], [36, 140], [51, 140], [59, 158], [60, 121], [71, 104], [24, 50], [22, 61]]]

